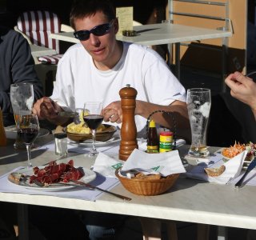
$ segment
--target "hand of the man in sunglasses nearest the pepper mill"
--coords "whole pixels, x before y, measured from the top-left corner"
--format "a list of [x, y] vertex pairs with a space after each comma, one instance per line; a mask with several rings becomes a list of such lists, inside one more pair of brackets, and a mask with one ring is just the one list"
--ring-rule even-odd
[[104, 121], [105, 122], [122, 122], [122, 109], [121, 102], [111, 102], [104, 109]]

